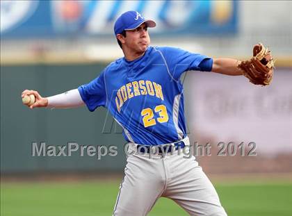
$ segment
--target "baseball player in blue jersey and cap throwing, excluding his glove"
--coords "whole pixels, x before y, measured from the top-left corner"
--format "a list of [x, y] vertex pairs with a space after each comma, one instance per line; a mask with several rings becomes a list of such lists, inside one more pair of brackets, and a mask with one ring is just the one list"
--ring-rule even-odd
[[[159, 197], [174, 200], [190, 215], [227, 215], [195, 158], [186, 158], [178, 151], [190, 145], [179, 78], [189, 70], [245, 75], [245, 71], [251, 71], [248, 61], [150, 47], [147, 30], [155, 26], [153, 20], [136, 11], [123, 13], [115, 22], [114, 32], [124, 58], [115, 60], [97, 78], [77, 89], [52, 97], [24, 90], [22, 97], [35, 95], [30, 108], [86, 105], [94, 111], [104, 106], [122, 126], [131, 154], [113, 215], [147, 215]], [[265, 81], [270, 74], [269, 70], [264, 75]], [[153, 147], [156, 154], [149, 157]]]

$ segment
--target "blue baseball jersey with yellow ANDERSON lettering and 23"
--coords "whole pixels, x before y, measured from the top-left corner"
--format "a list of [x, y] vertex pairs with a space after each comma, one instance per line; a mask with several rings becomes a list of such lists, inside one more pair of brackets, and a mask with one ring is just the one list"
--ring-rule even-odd
[[140, 58], [120, 58], [78, 90], [90, 111], [106, 107], [128, 142], [158, 145], [186, 137], [184, 88], [188, 70], [211, 71], [213, 59], [172, 47], [148, 47]]

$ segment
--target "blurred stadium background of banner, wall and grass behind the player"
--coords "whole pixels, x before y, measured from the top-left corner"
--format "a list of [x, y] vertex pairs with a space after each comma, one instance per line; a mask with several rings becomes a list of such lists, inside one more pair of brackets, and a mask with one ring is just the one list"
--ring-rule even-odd
[[[291, 1], [0, 2], [1, 215], [111, 215], [126, 163], [122, 128], [104, 108], [29, 110], [20, 94], [77, 88], [121, 58], [113, 24], [127, 10], [156, 21], [153, 46], [241, 60], [258, 42], [270, 47], [276, 68], [268, 87], [243, 76], [181, 77], [188, 135], [211, 144], [211, 155], [199, 151], [197, 160], [229, 215], [292, 214]], [[116, 145], [118, 153], [32, 156], [33, 142]], [[162, 200], [150, 215], [186, 213]]]

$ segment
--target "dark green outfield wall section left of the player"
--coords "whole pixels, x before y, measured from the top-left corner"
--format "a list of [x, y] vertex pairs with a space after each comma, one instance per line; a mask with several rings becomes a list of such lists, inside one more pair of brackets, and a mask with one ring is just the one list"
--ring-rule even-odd
[[[79, 65], [1, 65], [1, 173], [119, 171], [125, 164], [122, 128], [107, 115], [105, 108], [90, 112], [85, 106], [74, 109], [36, 108], [22, 105], [25, 89], [38, 90], [50, 96], [77, 88], [99, 75], [106, 63]], [[33, 153], [33, 142], [40, 152]], [[89, 150], [72, 151], [68, 156], [68, 142], [72, 149], [79, 145]], [[102, 156], [105, 148], [116, 145], [117, 156]], [[52, 146], [52, 147], [49, 147]], [[65, 154], [57, 156], [58, 147], [65, 146]], [[104, 146], [104, 147], [103, 147]], [[54, 156], [54, 147], [56, 156]], [[98, 148], [100, 147], [100, 153]], [[96, 151], [95, 151], [95, 149]], [[109, 151], [109, 149], [108, 149]], [[52, 156], [53, 155], [53, 156]], [[100, 158], [98, 158], [98, 155]]]

